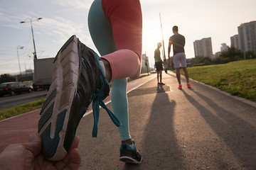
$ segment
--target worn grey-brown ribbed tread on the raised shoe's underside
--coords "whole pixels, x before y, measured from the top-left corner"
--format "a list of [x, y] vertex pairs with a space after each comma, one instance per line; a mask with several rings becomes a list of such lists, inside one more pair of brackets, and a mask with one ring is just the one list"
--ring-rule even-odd
[[[61, 130], [66, 131], [67, 127], [66, 125], [63, 127], [63, 125], [64, 121], [68, 118], [67, 115], [70, 115], [72, 102], [70, 103], [69, 101], [72, 101], [74, 97], [71, 94], [74, 94], [76, 91], [74, 81], [75, 76], [78, 77], [78, 73], [76, 73], [78, 71], [75, 71], [75, 69], [77, 69], [75, 63], [79, 62], [78, 57], [76, 57], [77, 54], [75, 54], [74, 51], [75, 45], [77, 45], [77, 42], [75, 42], [75, 38], [72, 36], [55, 57], [53, 63], [55, 64], [53, 66], [53, 80], [49, 91], [54, 90], [43, 104], [41, 119], [38, 122], [38, 132], [42, 130], [40, 134], [43, 142], [43, 154], [50, 160], [59, 159], [59, 153], [62, 155], [60, 157], [65, 156], [65, 154], [63, 154], [63, 144], [59, 143], [59, 132]], [[58, 102], [55, 102], [55, 100]], [[50, 105], [51, 101], [53, 101], [52, 105]], [[55, 113], [53, 113], [53, 111]], [[53, 120], [55, 120], [55, 122], [52, 122]], [[43, 128], [46, 126], [46, 123], [48, 123], [47, 127]], [[51, 130], [55, 131], [51, 132]], [[65, 148], [67, 152], [69, 147]]]

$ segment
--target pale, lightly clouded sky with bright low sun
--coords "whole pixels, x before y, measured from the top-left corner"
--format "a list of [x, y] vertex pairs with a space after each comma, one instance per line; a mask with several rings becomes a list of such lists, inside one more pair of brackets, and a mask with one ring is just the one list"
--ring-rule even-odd
[[[187, 58], [195, 57], [193, 42], [211, 38], [213, 54], [222, 43], [238, 34], [241, 23], [256, 21], [255, 0], [141, 0], [143, 17], [142, 53], [154, 67], [154, 50], [161, 42], [161, 23], [167, 56], [172, 27], [186, 38]], [[38, 58], [55, 57], [71, 35], [97, 52], [90, 38], [87, 14], [92, 0], [0, 0], [0, 74], [33, 69], [33, 33]], [[28, 23], [20, 23], [28, 21]], [[21, 49], [20, 47], [23, 47]], [[172, 54], [171, 50], [171, 55]]]

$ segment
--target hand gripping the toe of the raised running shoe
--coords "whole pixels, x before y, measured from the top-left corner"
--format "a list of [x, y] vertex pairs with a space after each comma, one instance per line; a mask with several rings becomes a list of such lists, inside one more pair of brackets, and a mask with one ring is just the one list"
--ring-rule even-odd
[[79, 137], [75, 136], [68, 154], [63, 160], [51, 162], [42, 153], [40, 135], [33, 133], [28, 143], [7, 146], [0, 154], [2, 170], [12, 169], [79, 169], [81, 156], [78, 152]]

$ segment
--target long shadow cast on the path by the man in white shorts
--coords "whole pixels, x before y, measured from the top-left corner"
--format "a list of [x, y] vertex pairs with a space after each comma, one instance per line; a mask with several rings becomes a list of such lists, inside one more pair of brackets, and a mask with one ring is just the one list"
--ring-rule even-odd
[[186, 91], [183, 91], [188, 101], [198, 109], [206, 123], [210, 125], [210, 128], [225, 142], [225, 145], [233, 152], [235, 157], [242, 162], [244, 168], [256, 169], [256, 128], [234, 113], [219, 106], [207, 96], [193, 89], [191, 91], [203, 99], [215, 112], [212, 113], [208, 108], [188, 95]]

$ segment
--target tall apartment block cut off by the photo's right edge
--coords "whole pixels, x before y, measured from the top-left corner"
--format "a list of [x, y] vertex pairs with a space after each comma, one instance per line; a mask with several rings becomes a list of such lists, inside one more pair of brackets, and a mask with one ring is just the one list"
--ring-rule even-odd
[[238, 36], [240, 39], [240, 49], [243, 52], [252, 50], [256, 53], [256, 21], [242, 23], [238, 27]]

